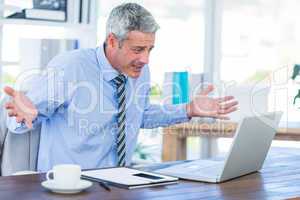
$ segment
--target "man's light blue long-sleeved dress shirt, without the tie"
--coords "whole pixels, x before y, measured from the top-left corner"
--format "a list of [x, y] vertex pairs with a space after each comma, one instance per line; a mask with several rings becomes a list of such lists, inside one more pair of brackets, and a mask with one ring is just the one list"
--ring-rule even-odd
[[[41, 125], [38, 170], [63, 163], [83, 169], [117, 164], [117, 98], [112, 79], [118, 72], [104, 48], [81, 49], [56, 56], [26, 93], [38, 109], [34, 127]], [[137, 79], [126, 82], [126, 163], [131, 163], [140, 128], [156, 128], [188, 120], [185, 105], [149, 103], [147, 65]], [[10, 131], [28, 129], [7, 118]]]

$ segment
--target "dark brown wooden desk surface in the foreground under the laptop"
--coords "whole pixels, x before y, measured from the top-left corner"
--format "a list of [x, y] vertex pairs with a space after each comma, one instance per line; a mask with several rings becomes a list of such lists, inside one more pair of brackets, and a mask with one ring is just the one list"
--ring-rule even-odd
[[221, 184], [180, 181], [164, 187], [108, 192], [94, 184], [77, 195], [60, 195], [41, 187], [44, 175], [0, 177], [0, 199], [285, 199], [300, 196], [300, 149], [273, 148], [261, 173]]

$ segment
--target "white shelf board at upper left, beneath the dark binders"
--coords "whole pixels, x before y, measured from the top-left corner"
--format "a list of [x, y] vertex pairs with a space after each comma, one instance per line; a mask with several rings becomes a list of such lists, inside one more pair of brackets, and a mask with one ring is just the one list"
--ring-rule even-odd
[[72, 24], [67, 22], [55, 22], [45, 20], [30, 20], [30, 19], [0, 19], [1, 25], [21, 25], [21, 26], [52, 26], [52, 27], [64, 27], [64, 28], [76, 28], [76, 29], [93, 29], [92, 25], [87, 24]]

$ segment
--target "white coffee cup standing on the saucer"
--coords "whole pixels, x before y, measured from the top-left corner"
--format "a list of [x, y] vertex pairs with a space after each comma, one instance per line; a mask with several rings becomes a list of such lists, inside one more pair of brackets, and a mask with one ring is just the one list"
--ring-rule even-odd
[[[53, 179], [50, 178], [50, 174], [53, 174]], [[64, 189], [75, 188], [80, 182], [80, 177], [80, 166], [73, 164], [55, 165], [46, 174], [47, 180], [53, 180], [57, 187]]]

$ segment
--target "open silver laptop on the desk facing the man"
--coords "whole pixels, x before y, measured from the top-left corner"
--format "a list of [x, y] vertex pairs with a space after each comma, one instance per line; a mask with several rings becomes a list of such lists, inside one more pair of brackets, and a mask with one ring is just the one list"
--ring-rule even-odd
[[182, 179], [220, 183], [262, 168], [282, 112], [244, 117], [224, 160], [193, 160], [155, 170]]

